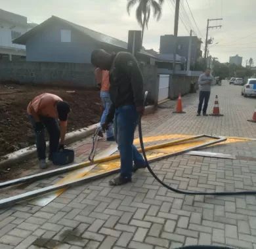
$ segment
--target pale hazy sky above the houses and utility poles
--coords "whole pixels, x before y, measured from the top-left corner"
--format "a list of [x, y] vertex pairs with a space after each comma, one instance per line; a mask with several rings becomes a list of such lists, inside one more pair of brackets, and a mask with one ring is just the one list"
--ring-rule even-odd
[[[140, 29], [136, 8], [129, 16], [126, 5], [127, 0], [0, 0], [1, 9], [26, 16], [28, 22], [40, 24], [54, 15], [123, 41], [127, 41], [129, 29]], [[204, 43], [207, 18], [223, 18], [210, 22], [210, 26], [222, 27], [209, 29], [209, 37], [213, 37], [209, 54], [220, 62], [238, 54], [244, 65], [251, 57], [256, 65], [255, 10], [256, 0], [181, 0], [178, 35], [189, 35], [192, 29]], [[159, 51], [160, 36], [173, 34], [174, 12], [174, 0], [165, 0], [160, 21], [152, 16], [144, 35], [146, 49]]]

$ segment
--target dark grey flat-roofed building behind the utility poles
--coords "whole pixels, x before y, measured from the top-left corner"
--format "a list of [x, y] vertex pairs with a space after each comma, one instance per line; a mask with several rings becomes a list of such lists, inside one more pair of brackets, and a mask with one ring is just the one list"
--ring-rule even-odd
[[[161, 35], [160, 37], [160, 54], [173, 54], [174, 52], [174, 35]], [[202, 41], [196, 36], [192, 36], [190, 65], [193, 67], [202, 57], [201, 44]], [[188, 60], [188, 47], [190, 36], [177, 37], [177, 54]]]

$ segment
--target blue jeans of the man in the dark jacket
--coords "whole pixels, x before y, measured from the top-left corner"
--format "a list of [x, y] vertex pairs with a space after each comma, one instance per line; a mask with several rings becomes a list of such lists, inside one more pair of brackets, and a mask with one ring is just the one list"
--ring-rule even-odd
[[115, 112], [114, 130], [115, 138], [121, 158], [121, 176], [131, 178], [133, 162], [135, 165], [145, 166], [145, 161], [135, 145], [133, 145], [138, 113], [135, 105], [123, 105]]

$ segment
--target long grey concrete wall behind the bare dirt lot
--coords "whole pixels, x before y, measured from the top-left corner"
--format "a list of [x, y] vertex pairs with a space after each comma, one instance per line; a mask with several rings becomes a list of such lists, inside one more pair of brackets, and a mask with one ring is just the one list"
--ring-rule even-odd
[[58, 62], [1, 62], [0, 81], [40, 85], [95, 86], [91, 64]]

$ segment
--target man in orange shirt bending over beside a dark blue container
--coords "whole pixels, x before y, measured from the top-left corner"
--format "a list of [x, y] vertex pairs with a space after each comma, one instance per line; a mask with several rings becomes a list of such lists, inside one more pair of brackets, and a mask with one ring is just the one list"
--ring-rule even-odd
[[39, 166], [40, 168], [47, 168], [45, 161], [45, 128], [49, 133], [48, 159], [52, 161], [53, 153], [64, 149], [70, 105], [54, 94], [43, 93], [33, 98], [28, 104], [27, 111], [35, 131]]

